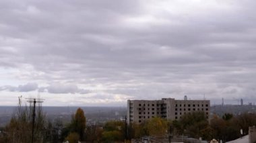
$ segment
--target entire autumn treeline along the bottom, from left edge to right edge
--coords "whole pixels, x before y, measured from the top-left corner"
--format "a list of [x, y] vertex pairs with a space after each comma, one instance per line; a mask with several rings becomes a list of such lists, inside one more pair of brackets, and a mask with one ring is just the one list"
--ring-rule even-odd
[[[46, 120], [46, 114], [40, 105], [36, 106], [34, 124], [34, 142], [130, 142], [132, 138], [154, 136], [173, 138], [189, 136], [203, 140], [235, 140], [248, 134], [249, 126], [256, 125], [255, 113], [241, 115], [213, 115], [207, 120], [203, 112], [185, 114], [180, 120], [165, 120], [154, 117], [141, 124], [126, 124], [124, 121], [110, 121], [102, 125], [86, 125], [86, 116], [80, 108], [72, 115], [71, 122], [63, 125], [61, 120], [52, 123]], [[241, 129], [243, 135], [241, 135]], [[59, 134], [61, 130], [61, 134]], [[31, 142], [32, 140], [32, 106], [18, 105], [11, 121], [3, 129], [0, 142]]]

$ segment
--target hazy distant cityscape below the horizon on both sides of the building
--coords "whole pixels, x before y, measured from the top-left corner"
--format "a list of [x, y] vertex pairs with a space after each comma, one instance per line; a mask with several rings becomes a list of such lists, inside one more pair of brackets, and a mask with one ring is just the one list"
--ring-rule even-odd
[[[5, 126], [11, 119], [16, 106], [0, 106], [0, 127]], [[49, 120], [60, 118], [63, 123], [71, 120], [71, 115], [75, 113], [77, 107], [43, 107]], [[125, 120], [127, 115], [126, 107], [82, 107], [87, 117], [87, 124], [102, 124], [110, 120]], [[238, 115], [241, 113], [256, 113], [256, 105], [211, 105], [211, 115], [224, 115], [224, 113], [232, 113]]]

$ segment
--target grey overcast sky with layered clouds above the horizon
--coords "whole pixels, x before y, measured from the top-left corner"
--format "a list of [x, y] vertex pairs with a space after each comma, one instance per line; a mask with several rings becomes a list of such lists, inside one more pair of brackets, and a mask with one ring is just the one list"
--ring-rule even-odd
[[[256, 2], [0, 0], [0, 105], [256, 102]], [[25, 99], [24, 99], [25, 102]]]

